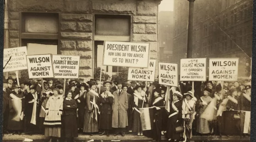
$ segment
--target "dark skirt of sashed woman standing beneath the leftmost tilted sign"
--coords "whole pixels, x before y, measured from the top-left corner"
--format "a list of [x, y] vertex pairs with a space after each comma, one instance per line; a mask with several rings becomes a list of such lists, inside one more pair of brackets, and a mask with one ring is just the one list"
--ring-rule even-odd
[[9, 119], [8, 119], [8, 125], [7, 129], [8, 130], [24, 130], [24, 121], [13, 121], [12, 118], [16, 116], [16, 112], [12, 111], [9, 113]]

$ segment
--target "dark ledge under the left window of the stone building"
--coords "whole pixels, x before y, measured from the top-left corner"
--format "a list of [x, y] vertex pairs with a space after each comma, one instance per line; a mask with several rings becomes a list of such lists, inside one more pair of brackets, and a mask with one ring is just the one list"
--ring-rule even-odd
[[58, 33], [21, 33], [22, 39], [59, 39]]

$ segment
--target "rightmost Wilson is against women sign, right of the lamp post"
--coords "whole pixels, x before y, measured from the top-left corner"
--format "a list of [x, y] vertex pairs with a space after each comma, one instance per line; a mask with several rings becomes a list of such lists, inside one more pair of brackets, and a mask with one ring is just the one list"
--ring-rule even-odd
[[237, 81], [238, 58], [212, 58], [209, 59], [210, 81]]

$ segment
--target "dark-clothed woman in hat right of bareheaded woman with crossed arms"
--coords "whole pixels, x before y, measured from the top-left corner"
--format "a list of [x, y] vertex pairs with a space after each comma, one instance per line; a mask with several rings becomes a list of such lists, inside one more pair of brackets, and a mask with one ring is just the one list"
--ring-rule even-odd
[[82, 132], [82, 129], [84, 127], [84, 114], [85, 114], [85, 105], [86, 105], [86, 93], [88, 90], [88, 86], [85, 83], [79, 84], [78, 88], [79, 91], [79, 97], [77, 99], [77, 105], [78, 105], [78, 129], [79, 132]]

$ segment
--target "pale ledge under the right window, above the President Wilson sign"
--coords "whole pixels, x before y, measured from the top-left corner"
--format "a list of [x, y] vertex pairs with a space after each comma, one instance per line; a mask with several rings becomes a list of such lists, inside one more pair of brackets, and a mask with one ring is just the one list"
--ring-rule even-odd
[[127, 36], [127, 35], [95, 35], [94, 40], [130, 42], [130, 36]]

